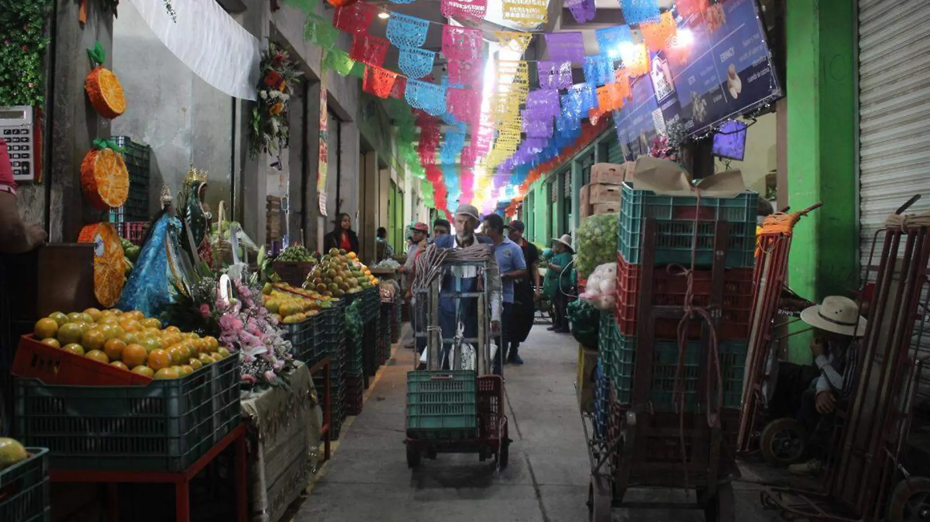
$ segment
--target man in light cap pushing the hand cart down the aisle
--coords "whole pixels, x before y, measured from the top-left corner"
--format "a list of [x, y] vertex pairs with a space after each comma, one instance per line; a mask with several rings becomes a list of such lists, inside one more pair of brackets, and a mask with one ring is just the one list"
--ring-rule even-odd
[[[436, 238], [433, 244], [437, 248], [469, 248], [479, 243], [493, 244], [487, 236], [478, 236], [475, 234], [475, 228], [481, 222], [481, 215], [478, 209], [470, 204], [459, 205], [453, 218], [455, 223], [455, 235], [445, 235]], [[443, 338], [455, 336], [458, 324], [456, 324], [456, 300], [451, 297], [442, 296], [445, 292], [453, 292], [456, 283], [453, 277], [461, 278], [461, 292], [476, 292], [478, 288], [478, 270], [476, 267], [452, 267], [449, 268], [449, 274], [443, 279], [442, 289], [439, 298], [439, 327], [442, 330]], [[449, 277], [453, 276], [453, 277]], [[495, 257], [491, 257], [487, 265], [485, 274], [487, 283], [490, 288], [487, 292], [490, 294], [491, 309], [491, 328], [494, 332], [500, 331], [500, 311], [501, 311], [501, 285], [498, 263]], [[478, 303], [474, 298], [462, 299], [459, 308], [459, 319], [465, 329], [465, 337], [476, 337], [478, 335]], [[445, 354], [451, 345], [446, 344]], [[502, 347], [500, 349], [503, 349]], [[447, 357], [444, 365], [448, 364]]]

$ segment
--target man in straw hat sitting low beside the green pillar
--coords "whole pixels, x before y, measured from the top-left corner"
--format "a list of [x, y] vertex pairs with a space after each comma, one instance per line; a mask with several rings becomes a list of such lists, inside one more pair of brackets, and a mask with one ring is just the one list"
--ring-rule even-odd
[[801, 320], [814, 327], [811, 353], [820, 375], [804, 392], [798, 421], [811, 434], [808, 439], [811, 460], [789, 466], [794, 475], [817, 475], [823, 469], [825, 436], [830, 436], [834, 413], [852, 394], [858, 372], [856, 338], [866, 330], [859, 307], [848, 297], [833, 295], [823, 303], [804, 308]]

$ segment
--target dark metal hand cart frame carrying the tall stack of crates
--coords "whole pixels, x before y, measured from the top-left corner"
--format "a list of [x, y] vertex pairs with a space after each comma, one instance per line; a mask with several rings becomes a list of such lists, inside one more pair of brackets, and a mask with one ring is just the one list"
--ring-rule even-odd
[[[633, 351], [618, 351], [614, 357], [634, 368], [618, 380], [627, 379], [619, 389], [610, 385], [606, 437], [590, 437], [590, 418], [583, 415], [585, 437], [591, 460], [589, 511], [594, 522], [609, 522], [612, 509], [685, 507], [703, 509], [708, 521], [733, 522], [734, 493], [731, 482], [739, 477], [735, 451], [738, 397], [733, 389], [742, 380], [740, 354], [714, 358], [711, 325], [701, 321], [698, 342], [689, 342], [682, 351], [671, 352], [667, 342], [656, 338], [657, 320], [681, 320], [682, 306], [659, 306], [654, 285], [654, 252], [657, 221], [644, 220], [638, 326]], [[724, 263], [727, 224], [713, 222], [713, 265], [709, 313], [713, 328], [720, 327], [724, 302]], [[618, 271], [619, 273], [619, 271]], [[695, 320], [692, 318], [692, 320]], [[677, 345], [671, 341], [672, 345]], [[723, 346], [723, 344], [721, 345]], [[662, 349], [662, 348], [665, 349]], [[607, 354], [602, 357], [608, 357]], [[682, 364], [675, 366], [678, 361]], [[738, 372], [738, 376], [735, 373]], [[732, 375], [731, 375], [732, 374]], [[718, 379], [720, 378], [720, 379]], [[719, 381], [723, 385], [719, 385]], [[624, 398], [619, 396], [623, 395]], [[729, 398], [721, 399], [721, 396]], [[684, 401], [682, 398], [684, 397]], [[631, 488], [694, 489], [696, 502], [625, 502]]]

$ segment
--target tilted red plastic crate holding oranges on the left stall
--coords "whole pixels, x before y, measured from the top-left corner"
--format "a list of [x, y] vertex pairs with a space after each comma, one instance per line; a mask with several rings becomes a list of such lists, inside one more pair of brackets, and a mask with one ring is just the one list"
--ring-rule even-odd
[[44, 345], [31, 335], [20, 337], [10, 373], [38, 379], [46, 385], [144, 386], [152, 382], [152, 377]]

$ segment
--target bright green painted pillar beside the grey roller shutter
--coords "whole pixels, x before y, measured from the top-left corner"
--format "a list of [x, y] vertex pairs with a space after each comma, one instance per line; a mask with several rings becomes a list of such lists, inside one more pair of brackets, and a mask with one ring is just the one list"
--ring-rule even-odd
[[[819, 301], [858, 286], [856, 2], [786, 8], [788, 201], [794, 211], [824, 203], [794, 228], [788, 277]], [[792, 362], [810, 360], [808, 341], [791, 337]]]

